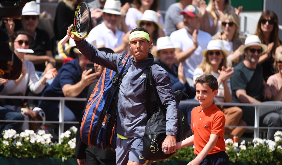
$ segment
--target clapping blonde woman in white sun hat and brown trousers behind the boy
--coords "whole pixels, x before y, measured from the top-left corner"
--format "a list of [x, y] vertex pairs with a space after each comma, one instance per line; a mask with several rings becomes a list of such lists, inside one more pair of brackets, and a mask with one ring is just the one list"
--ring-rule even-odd
[[[211, 40], [208, 43], [207, 49], [202, 52], [202, 63], [195, 69], [193, 81], [202, 74], [212, 74], [217, 78], [219, 83], [218, 94], [214, 97], [215, 102], [232, 102], [230, 77], [234, 72], [232, 67], [227, 67], [226, 57], [229, 52], [224, 49], [222, 40]], [[221, 108], [219, 106], [219, 108]], [[246, 122], [241, 120], [243, 112], [239, 107], [221, 108], [226, 118], [225, 125], [246, 126]], [[224, 138], [240, 138], [244, 133], [245, 128], [225, 128]]]

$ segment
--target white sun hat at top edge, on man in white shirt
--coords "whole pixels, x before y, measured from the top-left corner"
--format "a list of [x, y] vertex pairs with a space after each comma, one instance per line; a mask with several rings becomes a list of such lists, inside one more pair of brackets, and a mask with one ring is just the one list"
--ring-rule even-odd
[[117, 0], [107, 0], [105, 2], [104, 8], [99, 9], [98, 11], [109, 13], [109, 14], [116, 14], [116, 15], [125, 15], [124, 13], [120, 12], [122, 8], [122, 3]]

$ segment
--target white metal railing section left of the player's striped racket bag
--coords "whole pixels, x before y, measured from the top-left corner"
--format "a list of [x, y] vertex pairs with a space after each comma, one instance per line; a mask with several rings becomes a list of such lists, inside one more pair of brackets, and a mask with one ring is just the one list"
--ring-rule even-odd
[[[59, 121], [44, 121], [44, 123], [59, 123], [59, 143], [61, 143], [61, 133], [64, 132], [64, 124], [78, 124], [78, 121], [64, 121], [65, 101], [86, 101], [86, 98], [76, 97], [36, 97], [36, 96], [0, 96], [8, 99], [31, 99], [31, 100], [60, 100]], [[23, 120], [0, 120], [0, 122], [28, 122], [43, 123], [43, 121], [23, 121]]]

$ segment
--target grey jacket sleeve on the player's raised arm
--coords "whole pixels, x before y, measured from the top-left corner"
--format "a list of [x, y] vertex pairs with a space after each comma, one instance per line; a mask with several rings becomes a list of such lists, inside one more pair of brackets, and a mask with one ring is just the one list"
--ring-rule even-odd
[[123, 57], [122, 53], [100, 52], [85, 39], [76, 41], [75, 43], [80, 52], [92, 63], [102, 65], [103, 67], [109, 68], [114, 71], [117, 70], [118, 63]]

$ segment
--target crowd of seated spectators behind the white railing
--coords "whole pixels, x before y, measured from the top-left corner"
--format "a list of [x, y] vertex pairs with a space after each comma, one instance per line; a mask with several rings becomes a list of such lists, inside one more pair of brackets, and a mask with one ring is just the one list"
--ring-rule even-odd
[[[60, 43], [73, 23], [76, 6], [82, 1], [58, 1], [53, 29], [48, 29], [54, 32], [52, 38], [46, 29], [38, 28], [43, 16], [35, 1], [25, 4], [19, 20], [1, 20], [1, 40], [10, 42], [23, 66], [17, 80], [0, 78], [0, 95], [89, 96], [103, 67], [92, 63], [87, 70], [90, 61], [74, 41]], [[260, 107], [260, 126], [269, 127], [267, 139], [273, 139], [277, 131], [271, 127], [282, 127], [282, 46], [275, 12], [263, 11], [255, 33], [246, 37], [240, 32], [239, 14], [243, 7], [233, 7], [230, 0], [210, 0], [208, 4], [201, 0], [179, 0], [166, 9], [164, 17], [158, 10], [161, 0], [87, 0], [87, 3], [92, 29], [85, 39], [101, 51], [130, 54], [130, 31], [142, 27], [149, 32], [153, 42], [149, 53], [168, 72], [173, 91], [183, 90], [190, 101], [195, 101], [195, 105], [179, 105], [190, 123], [191, 110], [199, 105], [194, 98], [195, 80], [202, 74], [212, 74], [219, 84], [214, 102], [274, 105]], [[55, 55], [63, 58], [63, 65]], [[45, 120], [59, 120], [58, 101], [14, 99], [1, 100], [0, 119], [24, 120], [22, 108], [28, 104], [41, 108]], [[254, 126], [254, 107], [217, 105], [224, 113], [226, 126]], [[64, 110], [65, 121], [81, 121], [85, 102], [66, 101]], [[0, 136], [10, 128], [20, 130], [22, 123], [1, 124]], [[226, 127], [224, 138], [241, 138], [244, 131], [242, 127]], [[89, 157], [96, 154], [98, 158], [88, 159], [88, 163], [105, 159], [96, 148], [86, 151]], [[80, 152], [77, 155], [82, 164], [85, 155]]]

